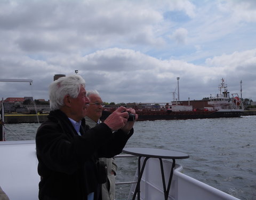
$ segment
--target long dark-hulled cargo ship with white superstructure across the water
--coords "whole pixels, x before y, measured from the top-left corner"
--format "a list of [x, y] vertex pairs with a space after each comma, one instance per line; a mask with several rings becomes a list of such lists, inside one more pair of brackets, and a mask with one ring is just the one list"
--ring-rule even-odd
[[[195, 109], [193, 106], [179, 105], [178, 102], [166, 103], [164, 108], [137, 108], [138, 121], [172, 120], [172, 119], [204, 119], [204, 118], [228, 118], [241, 117], [243, 114], [243, 102], [237, 93], [229, 95], [224, 79], [219, 85], [220, 93], [210, 97], [207, 102], [209, 107]], [[103, 108], [101, 120], [106, 119], [116, 108]]]

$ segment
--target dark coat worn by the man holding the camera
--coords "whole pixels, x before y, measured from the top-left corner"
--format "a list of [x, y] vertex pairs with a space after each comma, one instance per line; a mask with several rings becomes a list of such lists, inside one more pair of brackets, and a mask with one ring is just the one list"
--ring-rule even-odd
[[99, 157], [120, 154], [133, 129], [112, 133], [101, 123], [89, 130], [83, 119], [79, 136], [62, 111], [51, 111], [48, 118], [36, 133], [39, 199], [86, 200], [92, 192], [100, 199], [95, 163]]

